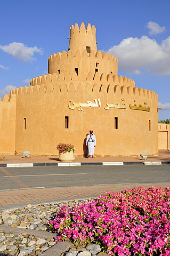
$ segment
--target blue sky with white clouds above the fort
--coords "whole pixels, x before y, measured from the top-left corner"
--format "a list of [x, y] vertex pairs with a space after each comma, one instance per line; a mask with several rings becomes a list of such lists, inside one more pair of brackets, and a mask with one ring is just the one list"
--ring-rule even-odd
[[118, 75], [158, 93], [170, 118], [169, 0], [1, 0], [0, 96], [47, 74], [47, 59], [68, 51], [69, 27], [96, 27], [98, 50], [118, 58]]

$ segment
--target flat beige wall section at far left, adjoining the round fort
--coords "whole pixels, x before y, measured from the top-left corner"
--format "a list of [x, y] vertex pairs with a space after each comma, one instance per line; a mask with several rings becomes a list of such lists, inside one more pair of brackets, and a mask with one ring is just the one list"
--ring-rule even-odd
[[0, 154], [15, 153], [16, 95], [0, 98]]

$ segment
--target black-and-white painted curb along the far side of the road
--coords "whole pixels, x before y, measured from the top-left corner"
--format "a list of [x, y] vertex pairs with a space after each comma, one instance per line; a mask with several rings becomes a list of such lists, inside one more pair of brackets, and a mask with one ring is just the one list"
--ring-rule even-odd
[[84, 165], [161, 165], [170, 164], [170, 161], [164, 162], [93, 162], [93, 163], [14, 163], [0, 164], [0, 167], [34, 167], [34, 166], [84, 166]]

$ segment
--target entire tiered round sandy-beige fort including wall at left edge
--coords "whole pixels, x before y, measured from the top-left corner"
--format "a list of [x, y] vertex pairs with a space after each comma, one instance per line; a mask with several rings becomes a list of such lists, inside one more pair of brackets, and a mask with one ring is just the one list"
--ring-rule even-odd
[[117, 58], [97, 50], [90, 23], [71, 26], [68, 38], [68, 52], [48, 58], [47, 75], [0, 101], [0, 153], [54, 156], [63, 142], [85, 156], [86, 134], [93, 129], [95, 156], [157, 155], [157, 94], [117, 75]]

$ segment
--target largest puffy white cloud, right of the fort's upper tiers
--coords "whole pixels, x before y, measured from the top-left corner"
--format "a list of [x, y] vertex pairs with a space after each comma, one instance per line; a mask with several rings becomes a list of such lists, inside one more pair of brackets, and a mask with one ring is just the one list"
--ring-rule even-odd
[[119, 69], [135, 74], [170, 75], [170, 36], [160, 45], [148, 36], [128, 37], [108, 53], [116, 55]]

